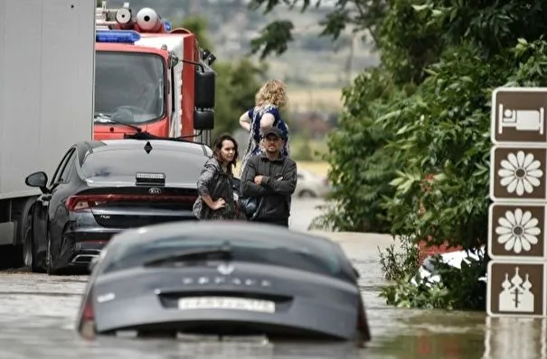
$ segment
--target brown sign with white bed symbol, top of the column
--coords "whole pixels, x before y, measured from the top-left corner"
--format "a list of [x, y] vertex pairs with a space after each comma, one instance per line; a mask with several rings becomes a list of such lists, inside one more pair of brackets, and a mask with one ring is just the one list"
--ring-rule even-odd
[[499, 87], [492, 94], [493, 143], [545, 143], [547, 87]]

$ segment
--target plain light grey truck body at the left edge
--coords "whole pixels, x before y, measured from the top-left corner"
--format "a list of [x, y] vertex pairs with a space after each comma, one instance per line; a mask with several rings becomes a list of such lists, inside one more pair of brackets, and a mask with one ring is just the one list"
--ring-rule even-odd
[[0, 0], [0, 244], [13, 243], [6, 207], [41, 194], [26, 176], [51, 179], [72, 143], [93, 138], [96, 5]]

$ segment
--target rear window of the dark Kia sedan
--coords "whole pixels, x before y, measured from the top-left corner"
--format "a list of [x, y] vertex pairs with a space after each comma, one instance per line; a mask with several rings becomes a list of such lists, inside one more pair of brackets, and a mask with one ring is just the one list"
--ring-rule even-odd
[[[140, 149], [139, 149], [140, 150]], [[81, 165], [83, 175], [90, 178], [131, 178], [137, 172], [165, 173], [169, 182], [195, 182], [207, 157], [173, 150], [116, 149], [90, 153]]]

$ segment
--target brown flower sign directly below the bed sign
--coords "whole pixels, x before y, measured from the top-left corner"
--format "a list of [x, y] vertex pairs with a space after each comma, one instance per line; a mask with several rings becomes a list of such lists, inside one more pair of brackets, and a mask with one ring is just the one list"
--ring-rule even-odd
[[490, 151], [490, 198], [546, 202], [547, 147], [494, 146]]

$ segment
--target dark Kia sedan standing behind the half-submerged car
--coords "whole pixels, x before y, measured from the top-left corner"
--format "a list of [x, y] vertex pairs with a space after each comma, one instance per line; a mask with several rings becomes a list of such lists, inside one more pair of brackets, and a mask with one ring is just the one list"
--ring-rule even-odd
[[196, 180], [211, 149], [169, 140], [76, 143], [51, 181], [45, 172], [25, 180], [42, 189], [24, 243], [33, 272], [87, 269], [112, 235], [127, 228], [194, 220]]

